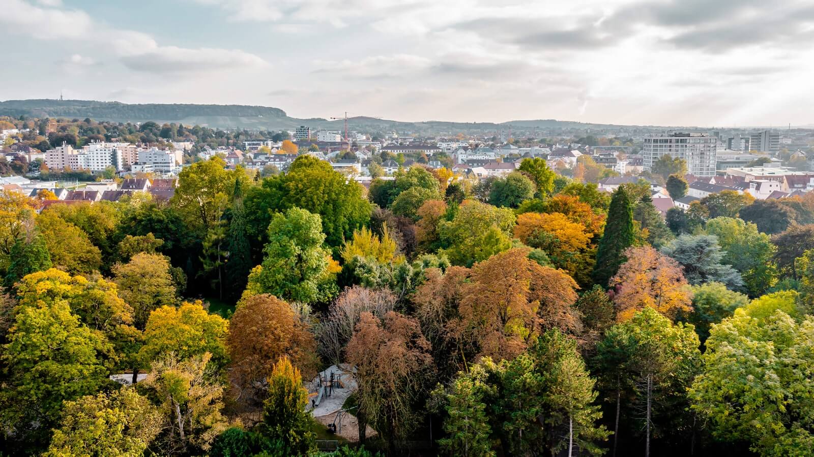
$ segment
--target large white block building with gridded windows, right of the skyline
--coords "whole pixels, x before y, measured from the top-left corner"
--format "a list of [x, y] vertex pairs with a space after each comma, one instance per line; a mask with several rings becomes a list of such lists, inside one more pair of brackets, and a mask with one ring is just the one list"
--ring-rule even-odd
[[669, 133], [646, 136], [641, 156], [647, 171], [667, 154], [674, 159], [684, 159], [689, 174], [715, 176], [717, 149], [717, 137], [704, 133]]

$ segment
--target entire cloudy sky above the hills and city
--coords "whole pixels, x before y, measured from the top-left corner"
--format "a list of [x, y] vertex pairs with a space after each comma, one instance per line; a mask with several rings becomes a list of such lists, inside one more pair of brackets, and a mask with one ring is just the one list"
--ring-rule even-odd
[[811, 0], [0, 0], [0, 100], [814, 124]]

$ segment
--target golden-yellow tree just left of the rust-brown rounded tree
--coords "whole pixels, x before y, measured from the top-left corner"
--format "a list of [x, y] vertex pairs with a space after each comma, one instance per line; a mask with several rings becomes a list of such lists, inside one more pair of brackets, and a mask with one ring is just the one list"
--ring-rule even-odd
[[226, 361], [228, 322], [209, 314], [201, 302], [184, 302], [180, 307], [163, 306], [150, 313], [140, 350], [147, 362], [172, 354], [179, 360], [207, 353], [207, 363], [222, 367]]

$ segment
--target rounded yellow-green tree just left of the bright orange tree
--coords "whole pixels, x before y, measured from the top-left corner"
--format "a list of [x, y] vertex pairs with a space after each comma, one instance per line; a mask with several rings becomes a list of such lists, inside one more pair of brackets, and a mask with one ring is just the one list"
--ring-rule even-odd
[[513, 227], [514, 213], [510, 209], [467, 200], [452, 220], [438, 224], [444, 246], [440, 253], [453, 264], [470, 266], [509, 249]]

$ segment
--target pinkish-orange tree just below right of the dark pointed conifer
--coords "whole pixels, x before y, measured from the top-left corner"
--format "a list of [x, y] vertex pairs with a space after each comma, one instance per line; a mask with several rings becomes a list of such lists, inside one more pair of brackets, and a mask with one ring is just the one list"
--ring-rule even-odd
[[616, 320], [628, 320], [644, 307], [672, 320], [679, 311], [692, 310], [692, 292], [675, 260], [650, 246], [628, 248], [625, 256], [628, 261], [610, 279], [616, 288]]

